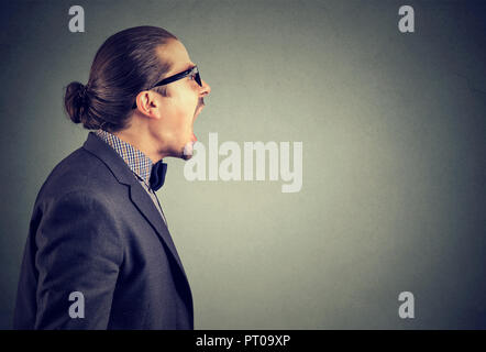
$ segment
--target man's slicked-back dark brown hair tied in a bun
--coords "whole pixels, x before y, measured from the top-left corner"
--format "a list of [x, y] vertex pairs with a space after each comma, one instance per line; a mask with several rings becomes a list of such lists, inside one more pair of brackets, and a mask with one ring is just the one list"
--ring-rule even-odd
[[[66, 87], [64, 105], [85, 129], [117, 132], [126, 128], [136, 95], [170, 69], [156, 48], [177, 37], [156, 26], [135, 26], [110, 36], [98, 50], [88, 84]], [[158, 89], [165, 95], [165, 87]]]

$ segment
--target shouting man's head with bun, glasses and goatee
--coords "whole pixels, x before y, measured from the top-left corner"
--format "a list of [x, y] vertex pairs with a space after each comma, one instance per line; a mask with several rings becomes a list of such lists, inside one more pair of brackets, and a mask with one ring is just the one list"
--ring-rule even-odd
[[66, 88], [66, 111], [75, 123], [114, 133], [153, 162], [188, 158], [184, 151], [196, 141], [194, 121], [210, 87], [199, 85], [195, 74], [154, 86], [194, 66], [169, 32], [155, 26], [124, 30], [98, 50], [88, 84]]

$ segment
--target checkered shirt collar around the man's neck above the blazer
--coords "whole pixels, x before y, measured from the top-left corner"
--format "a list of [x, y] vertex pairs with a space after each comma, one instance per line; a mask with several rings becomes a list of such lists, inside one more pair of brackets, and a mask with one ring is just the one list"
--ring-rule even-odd
[[153, 163], [145, 154], [110, 132], [97, 130], [95, 133], [110, 145], [129, 165], [130, 169], [150, 187]]

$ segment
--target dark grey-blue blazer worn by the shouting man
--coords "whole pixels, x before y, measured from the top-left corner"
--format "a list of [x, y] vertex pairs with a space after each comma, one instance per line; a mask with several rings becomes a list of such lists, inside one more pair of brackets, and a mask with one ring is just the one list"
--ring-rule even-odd
[[[69, 315], [80, 302], [69, 300], [74, 292], [84, 296], [84, 318]], [[167, 227], [125, 162], [92, 132], [37, 195], [13, 327], [194, 329]]]

